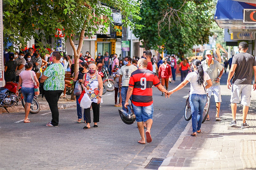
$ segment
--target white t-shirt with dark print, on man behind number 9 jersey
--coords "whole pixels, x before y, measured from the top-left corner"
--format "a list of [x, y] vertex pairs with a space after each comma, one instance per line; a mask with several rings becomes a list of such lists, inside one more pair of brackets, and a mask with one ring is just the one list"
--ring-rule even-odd
[[131, 78], [132, 72], [134, 72], [137, 69], [136, 66], [130, 65], [130, 66], [122, 66], [120, 69], [120, 74], [122, 75], [122, 86], [129, 86], [129, 80]]

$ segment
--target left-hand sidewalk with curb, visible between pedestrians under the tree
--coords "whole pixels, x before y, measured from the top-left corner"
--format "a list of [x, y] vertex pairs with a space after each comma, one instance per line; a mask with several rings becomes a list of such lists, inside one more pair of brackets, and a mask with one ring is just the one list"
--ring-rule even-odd
[[[76, 101], [73, 101], [73, 100], [71, 101], [70, 98], [71, 98], [71, 95], [66, 95], [66, 98], [63, 98], [63, 99], [60, 98], [58, 101], [58, 108], [59, 109], [76, 108]], [[43, 97], [42, 99], [42, 96], [40, 95], [38, 96], [37, 101], [40, 104], [41, 110], [50, 110], [49, 104], [46, 101], [45, 97]], [[7, 107], [7, 110], [9, 112], [24, 112], [24, 108], [21, 102], [19, 102], [17, 106], [14, 105], [12, 107]], [[3, 109], [3, 112], [6, 112], [6, 110]]]

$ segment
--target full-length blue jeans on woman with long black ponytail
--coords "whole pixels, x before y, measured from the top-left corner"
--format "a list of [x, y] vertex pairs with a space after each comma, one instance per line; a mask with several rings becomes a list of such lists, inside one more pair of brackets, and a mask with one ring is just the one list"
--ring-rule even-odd
[[[189, 95], [189, 103], [192, 112], [192, 128], [193, 133], [201, 129], [203, 120], [204, 106], [207, 101], [206, 94], [191, 94]], [[196, 127], [197, 125], [197, 127]]]

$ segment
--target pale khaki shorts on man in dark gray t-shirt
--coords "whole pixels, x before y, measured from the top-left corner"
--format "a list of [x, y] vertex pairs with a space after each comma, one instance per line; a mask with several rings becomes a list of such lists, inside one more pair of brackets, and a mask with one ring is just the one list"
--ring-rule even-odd
[[251, 102], [251, 85], [250, 84], [232, 84], [231, 103], [239, 103], [244, 106], [250, 106]]

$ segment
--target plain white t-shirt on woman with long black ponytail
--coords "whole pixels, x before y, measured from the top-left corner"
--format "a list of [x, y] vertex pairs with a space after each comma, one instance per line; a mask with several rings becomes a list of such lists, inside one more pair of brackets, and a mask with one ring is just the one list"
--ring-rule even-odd
[[206, 94], [204, 87], [206, 80], [210, 80], [210, 76], [204, 71], [204, 86], [199, 86], [197, 84], [197, 72], [193, 71], [187, 75], [185, 80], [190, 82], [190, 94]]

